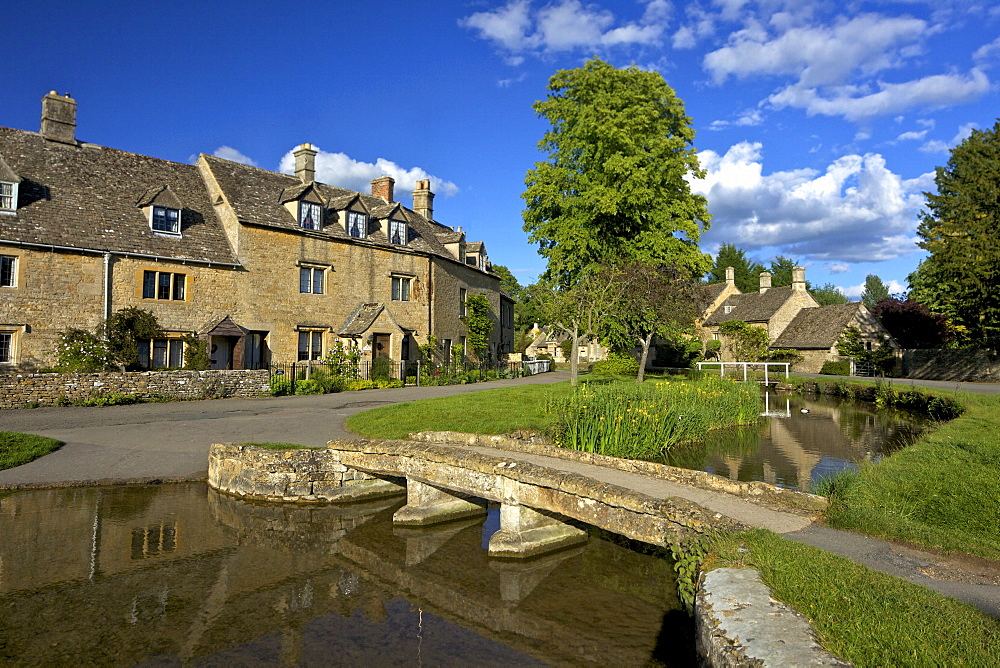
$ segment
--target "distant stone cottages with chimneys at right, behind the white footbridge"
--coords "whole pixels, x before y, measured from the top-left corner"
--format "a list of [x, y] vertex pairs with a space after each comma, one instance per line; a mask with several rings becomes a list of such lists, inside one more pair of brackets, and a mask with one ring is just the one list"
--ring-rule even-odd
[[702, 339], [723, 340], [723, 361], [743, 361], [733, 359], [725, 337], [719, 334], [719, 325], [730, 320], [766, 329], [772, 349], [791, 349], [801, 354], [804, 359], [794, 366], [799, 373], [818, 373], [824, 362], [847, 359], [837, 352], [837, 340], [850, 327], [861, 330], [869, 349], [878, 345], [881, 337], [898, 347], [864, 304], [820, 306], [806, 289], [803, 267], [792, 270], [791, 285], [779, 288], [771, 287], [770, 272], [761, 272], [759, 292], [740, 292], [733, 276], [729, 267], [725, 283], [703, 286], [708, 306], [696, 323]]

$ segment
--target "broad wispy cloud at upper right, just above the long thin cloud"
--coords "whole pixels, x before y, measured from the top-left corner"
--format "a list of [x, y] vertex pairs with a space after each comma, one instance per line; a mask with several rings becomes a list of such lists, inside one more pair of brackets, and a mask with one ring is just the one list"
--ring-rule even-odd
[[794, 74], [806, 87], [836, 84], [855, 71], [870, 75], [895, 66], [899, 46], [927, 32], [919, 19], [873, 14], [834, 26], [794, 27], [777, 37], [753, 24], [730, 35], [729, 45], [707, 54], [704, 65], [716, 83], [729, 76]]

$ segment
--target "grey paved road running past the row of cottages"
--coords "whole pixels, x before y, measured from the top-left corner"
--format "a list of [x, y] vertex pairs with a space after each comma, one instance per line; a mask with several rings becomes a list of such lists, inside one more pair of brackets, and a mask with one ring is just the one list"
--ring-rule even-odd
[[0, 471], [0, 489], [94, 481], [204, 480], [212, 443], [324, 446], [333, 438], [354, 437], [344, 428], [344, 420], [375, 406], [568, 378], [569, 372], [555, 371], [470, 385], [0, 411], [0, 431], [39, 434], [66, 443], [51, 455]]

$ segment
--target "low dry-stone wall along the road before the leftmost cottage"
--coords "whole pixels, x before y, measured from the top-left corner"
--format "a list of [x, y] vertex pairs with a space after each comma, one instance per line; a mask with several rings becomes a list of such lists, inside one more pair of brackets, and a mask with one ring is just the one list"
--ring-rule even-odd
[[0, 373], [0, 409], [54, 406], [108, 394], [182, 399], [263, 397], [266, 369], [242, 371], [140, 371], [125, 373]]

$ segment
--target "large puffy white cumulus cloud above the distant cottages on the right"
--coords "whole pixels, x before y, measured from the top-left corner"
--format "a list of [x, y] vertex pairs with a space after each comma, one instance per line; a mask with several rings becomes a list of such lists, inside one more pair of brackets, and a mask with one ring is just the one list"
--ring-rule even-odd
[[764, 174], [762, 145], [741, 142], [724, 155], [699, 154], [705, 179], [692, 190], [708, 199], [706, 243], [755, 250], [779, 247], [821, 262], [889, 260], [916, 250], [916, 212], [928, 178], [904, 180], [877, 154], [846, 155], [824, 171]]

